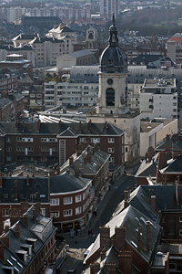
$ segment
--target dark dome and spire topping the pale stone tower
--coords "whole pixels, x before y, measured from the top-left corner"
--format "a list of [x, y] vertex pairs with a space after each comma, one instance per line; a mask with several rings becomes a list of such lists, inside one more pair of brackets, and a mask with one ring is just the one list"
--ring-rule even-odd
[[109, 45], [103, 51], [100, 58], [101, 72], [125, 73], [127, 71], [125, 52], [118, 46], [117, 30], [115, 26], [115, 15], [113, 25], [109, 28]]

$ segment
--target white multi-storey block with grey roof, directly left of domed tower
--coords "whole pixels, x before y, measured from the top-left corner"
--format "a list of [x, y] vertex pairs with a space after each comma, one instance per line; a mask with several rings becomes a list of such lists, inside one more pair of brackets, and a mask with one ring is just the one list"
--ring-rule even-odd
[[76, 66], [70, 70], [69, 81], [45, 82], [45, 110], [58, 106], [80, 107], [96, 105], [98, 97], [96, 71], [97, 68], [95, 66]]

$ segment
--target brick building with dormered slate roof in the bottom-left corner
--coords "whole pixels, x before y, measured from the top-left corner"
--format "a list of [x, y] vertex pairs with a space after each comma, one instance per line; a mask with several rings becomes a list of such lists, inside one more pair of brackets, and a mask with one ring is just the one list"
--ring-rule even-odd
[[16, 212], [5, 225], [1, 225], [1, 273], [53, 273], [49, 264], [55, 262], [58, 267], [58, 258], [66, 257], [66, 242], [61, 247], [56, 245], [56, 227], [38, 207], [33, 205], [18, 215]]

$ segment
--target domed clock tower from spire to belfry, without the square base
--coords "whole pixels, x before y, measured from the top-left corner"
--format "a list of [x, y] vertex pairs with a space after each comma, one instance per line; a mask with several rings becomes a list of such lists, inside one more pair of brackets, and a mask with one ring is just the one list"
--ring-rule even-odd
[[108, 46], [100, 58], [97, 113], [122, 114], [127, 108], [127, 63], [124, 51], [118, 46], [115, 16], [109, 28]]

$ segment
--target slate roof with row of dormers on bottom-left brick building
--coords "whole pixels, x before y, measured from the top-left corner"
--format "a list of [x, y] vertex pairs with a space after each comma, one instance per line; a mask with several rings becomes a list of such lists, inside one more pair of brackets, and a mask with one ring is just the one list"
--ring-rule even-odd
[[[51, 219], [38, 214], [39, 223], [37, 223], [33, 218], [33, 210], [34, 205], [24, 214], [24, 216], [28, 216], [28, 227], [25, 227], [24, 223], [19, 220], [5, 233], [4, 237], [9, 238], [9, 248], [6, 248], [6, 246], [4, 248], [5, 259], [4, 263], [3, 261], [0, 263], [0, 273], [7, 273], [3, 270], [7, 266], [15, 269], [15, 273], [25, 273], [29, 264], [36, 258], [37, 253], [44, 247], [47, 239], [55, 233], [56, 227], [50, 226], [50, 222], [52, 223]], [[15, 234], [17, 226], [19, 227], [20, 237], [17, 237]], [[45, 237], [38, 237], [37, 226], [39, 231], [41, 229], [44, 230]], [[35, 242], [34, 248], [30, 245], [31, 240]], [[26, 251], [27, 248], [32, 248], [32, 252]], [[21, 256], [23, 254], [25, 254], [25, 260]]]

